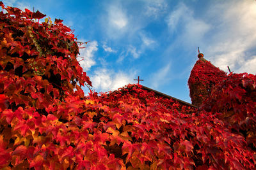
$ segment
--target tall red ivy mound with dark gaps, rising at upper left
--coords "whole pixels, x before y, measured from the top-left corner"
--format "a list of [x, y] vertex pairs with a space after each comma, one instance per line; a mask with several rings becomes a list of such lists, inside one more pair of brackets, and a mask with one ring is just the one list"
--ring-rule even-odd
[[39, 24], [35, 18], [45, 17], [39, 11], [4, 9], [8, 13], [2, 11], [0, 18], [0, 93], [5, 91], [10, 104], [46, 108], [54, 99], [72, 94], [74, 87], [81, 91], [79, 85], [92, 85], [76, 60], [74, 34], [61, 20], [51, 24], [46, 18]]

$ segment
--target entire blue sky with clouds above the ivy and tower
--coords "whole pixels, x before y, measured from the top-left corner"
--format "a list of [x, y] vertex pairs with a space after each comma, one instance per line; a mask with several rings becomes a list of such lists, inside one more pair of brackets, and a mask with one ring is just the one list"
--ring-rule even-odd
[[[256, 1], [3, 1], [61, 18], [74, 29], [93, 89], [136, 83], [190, 101], [188, 78], [205, 59], [234, 73], [256, 73]], [[86, 89], [84, 89], [86, 91]]]

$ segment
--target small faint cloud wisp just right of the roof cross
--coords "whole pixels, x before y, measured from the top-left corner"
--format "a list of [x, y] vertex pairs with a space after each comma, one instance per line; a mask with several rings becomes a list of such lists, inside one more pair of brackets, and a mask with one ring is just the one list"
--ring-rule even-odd
[[152, 75], [151, 82], [153, 89], [157, 89], [159, 85], [163, 85], [166, 81], [170, 80], [170, 68], [171, 64], [167, 64]]

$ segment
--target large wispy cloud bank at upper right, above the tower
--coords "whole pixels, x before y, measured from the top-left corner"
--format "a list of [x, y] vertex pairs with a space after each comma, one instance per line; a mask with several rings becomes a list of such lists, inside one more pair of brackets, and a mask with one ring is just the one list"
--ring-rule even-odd
[[255, 1], [212, 1], [200, 16], [180, 3], [166, 18], [170, 34], [179, 31], [169, 48], [191, 52], [200, 46], [206, 59], [224, 71], [229, 66], [235, 73], [255, 74], [255, 23]]

